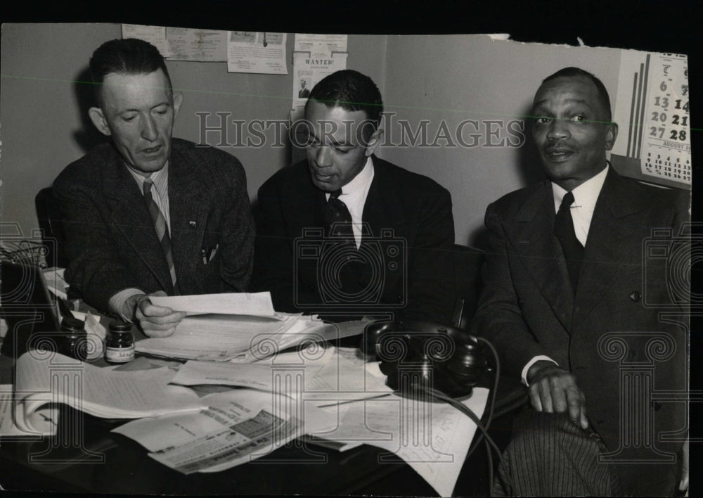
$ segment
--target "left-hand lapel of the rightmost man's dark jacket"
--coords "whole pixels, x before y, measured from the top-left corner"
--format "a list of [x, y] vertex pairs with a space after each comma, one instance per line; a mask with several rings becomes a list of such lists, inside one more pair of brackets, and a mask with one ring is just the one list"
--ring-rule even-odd
[[568, 331], [574, 296], [564, 252], [553, 235], [554, 217], [554, 198], [546, 181], [527, 198], [515, 221], [505, 223], [505, 234], [536, 288]]

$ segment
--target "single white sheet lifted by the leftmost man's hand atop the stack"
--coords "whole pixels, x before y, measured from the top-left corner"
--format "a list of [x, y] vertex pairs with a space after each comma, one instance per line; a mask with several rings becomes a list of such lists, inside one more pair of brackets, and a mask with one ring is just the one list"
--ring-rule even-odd
[[275, 317], [271, 293], [221, 293], [198, 295], [150, 296], [157, 306], [187, 314], [240, 314], [252, 317]]

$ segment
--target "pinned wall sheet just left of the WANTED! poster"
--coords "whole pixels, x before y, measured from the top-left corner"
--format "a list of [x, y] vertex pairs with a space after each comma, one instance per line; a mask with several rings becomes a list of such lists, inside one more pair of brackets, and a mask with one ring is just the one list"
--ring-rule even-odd
[[285, 33], [230, 31], [227, 44], [228, 72], [287, 75]]

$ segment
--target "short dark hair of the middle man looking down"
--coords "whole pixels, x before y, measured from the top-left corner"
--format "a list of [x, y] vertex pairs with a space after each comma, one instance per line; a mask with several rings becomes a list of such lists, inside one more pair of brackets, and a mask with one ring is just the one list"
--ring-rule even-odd
[[359, 71], [344, 69], [325, 76], [310, 91], [306, 107], [310, 101], [318, 101], [328, 108], [341, 107], [344, 110], [363, 110], [373, 127], [363, 127], [363, 139], [368, 140], [381, 124], [383, 101], [381, 92], [373, 79]]

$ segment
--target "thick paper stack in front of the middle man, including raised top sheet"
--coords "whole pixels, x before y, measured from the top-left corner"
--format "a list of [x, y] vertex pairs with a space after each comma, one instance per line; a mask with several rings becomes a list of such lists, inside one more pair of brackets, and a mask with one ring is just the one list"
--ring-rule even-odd
[[[339, 338], [340, 327], [316, 317], [278, 313], [271, 294], [224, 293], [150, 298], [153, 304], [186, 312], [167, 338], [146, 338], [137, 352], [180, 359], [255, 362], [285, 348]], [[363, 323], [351, 333], [361, 333]]]

